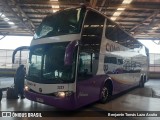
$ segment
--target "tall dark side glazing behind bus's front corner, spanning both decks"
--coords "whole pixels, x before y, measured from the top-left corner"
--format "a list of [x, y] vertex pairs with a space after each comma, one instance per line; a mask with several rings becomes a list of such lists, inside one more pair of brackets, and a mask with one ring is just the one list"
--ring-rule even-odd
[[[98, 19], [96, 19], [98, 18]], [[105, 17], [94, 11], [88, 11], [81, 36], [78, 79], [95, 75], [98, 70], [100, 44]]]

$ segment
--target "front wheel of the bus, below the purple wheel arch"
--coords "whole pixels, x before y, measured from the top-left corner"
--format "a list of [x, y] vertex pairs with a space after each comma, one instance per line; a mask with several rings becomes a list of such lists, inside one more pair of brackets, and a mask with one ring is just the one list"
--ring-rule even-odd
[[110, 98], [110, 92], [109, 92], [109, 87], [107, 85], [104, 85], [101, 91], [101, 103], [106, 103]]

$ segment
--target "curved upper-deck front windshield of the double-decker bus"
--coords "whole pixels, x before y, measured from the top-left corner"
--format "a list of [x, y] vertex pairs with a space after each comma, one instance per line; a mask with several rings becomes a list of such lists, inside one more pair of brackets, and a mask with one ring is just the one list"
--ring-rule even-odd
[[80, 33], [85, 9], [68, 9], [46, 17], [33, 39]]

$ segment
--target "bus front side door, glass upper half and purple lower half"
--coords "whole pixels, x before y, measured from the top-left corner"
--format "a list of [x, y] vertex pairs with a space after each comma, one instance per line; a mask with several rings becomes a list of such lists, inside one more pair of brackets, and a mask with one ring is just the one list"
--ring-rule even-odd
[[77, 72], [77, 102], [79, 105], [86, 105], [98, 99], [100, 87], [99, 78], [95, 75], [97, 65], [94, 53], [80, 52]]

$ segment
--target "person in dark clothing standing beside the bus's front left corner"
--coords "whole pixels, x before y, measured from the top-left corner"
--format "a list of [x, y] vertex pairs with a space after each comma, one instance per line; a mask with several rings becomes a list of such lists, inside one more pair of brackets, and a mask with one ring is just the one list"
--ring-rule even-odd
[[20, 65], [16, 71], [15, 75], [15, 89], [18, 95], [21, 96], [21, 99], [24, 97], [24, 79], [25, 79], [26, 70], [24, 65]]

